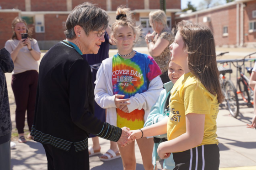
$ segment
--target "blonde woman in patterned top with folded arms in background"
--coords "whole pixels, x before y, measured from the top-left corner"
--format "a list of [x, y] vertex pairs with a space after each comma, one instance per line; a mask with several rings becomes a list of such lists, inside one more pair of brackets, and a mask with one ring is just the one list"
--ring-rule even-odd
[[170, 81], [168, 77], [168, 61], [171, 54], [169, 46], [174, 41], [174, 35], [167, 26], [166, 15], [162, 10], [151, 11], [149, 13], [149, 23], [154, 32], [147, 34], [145, 40], [150, 55], [162, 71], [160, 78], [165, 84]]

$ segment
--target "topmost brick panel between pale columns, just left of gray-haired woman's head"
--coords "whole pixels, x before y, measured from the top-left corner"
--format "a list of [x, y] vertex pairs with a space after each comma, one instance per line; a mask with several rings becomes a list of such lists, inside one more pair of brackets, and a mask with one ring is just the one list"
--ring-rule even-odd
[[67, 11], [67, 1], [31, 0], [31, 11]]

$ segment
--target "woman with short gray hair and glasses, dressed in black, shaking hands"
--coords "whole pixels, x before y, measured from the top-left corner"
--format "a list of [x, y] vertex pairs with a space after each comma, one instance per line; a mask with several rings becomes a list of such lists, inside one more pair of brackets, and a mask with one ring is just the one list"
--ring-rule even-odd
[[48, 170], [89, 170], [89, 133], [123, 146], [129, 143], [129, 128], [94, 117], [91, 68], [81, 56], [98, 53], [108, 21], [106, 11], [91, 3], [76, 6], [66, 21], [66, 40], [40, 63], [31, 134], [43, 144]]

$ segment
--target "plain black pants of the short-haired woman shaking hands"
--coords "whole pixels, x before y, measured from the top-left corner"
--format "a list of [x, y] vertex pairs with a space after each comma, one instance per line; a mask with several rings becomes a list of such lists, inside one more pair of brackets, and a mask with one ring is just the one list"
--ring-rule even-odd
[[43, 144], [48, 170], [90, 170], [88, 149], [75, 152], [72, 144], [69, 152], [50, 144]]

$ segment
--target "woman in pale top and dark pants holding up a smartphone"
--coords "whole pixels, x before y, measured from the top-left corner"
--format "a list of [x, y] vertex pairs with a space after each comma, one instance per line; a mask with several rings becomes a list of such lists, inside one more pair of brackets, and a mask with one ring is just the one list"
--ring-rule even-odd
[[[11, 87], [16, 101], [15, 120], [19, 142], [26, 143], [27, 140], [24, 138], [25, 115], [27, 110], [27, 124], [31, 131], [38, 80], [37, 61], [40, 59], [41, 52], [37, 40], [28, 33], [26, 21], [16, 17], [11, 25], [13, 35], [5, 43], [5, 48], [11, 53], [14, 63]], [[27, 138], [31, 138], [30, 134]]]

